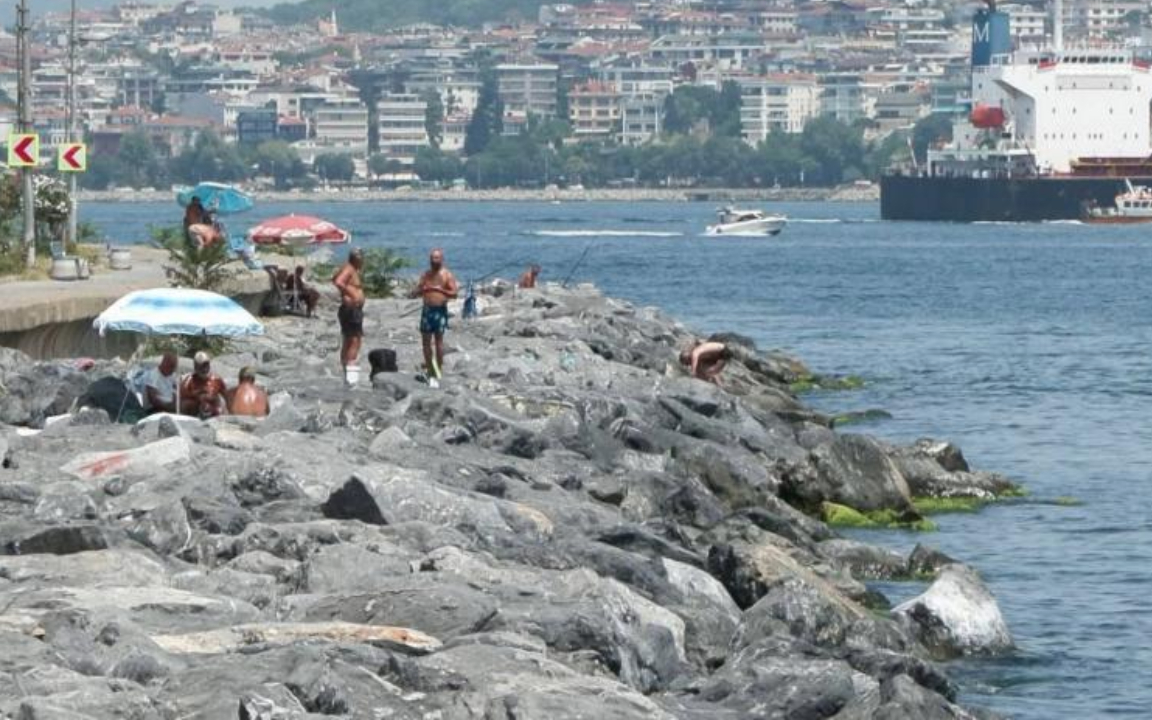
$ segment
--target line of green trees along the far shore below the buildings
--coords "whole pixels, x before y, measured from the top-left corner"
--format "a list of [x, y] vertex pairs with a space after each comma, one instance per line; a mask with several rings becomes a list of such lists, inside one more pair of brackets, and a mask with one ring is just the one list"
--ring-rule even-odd
[[[309, 190], [321, 184], [351, 183], [367, 175], [369, 185], [498, 188], [798, 188], [833, 187], [876, 180], [894, 162], [923, 157], [950, 126], [929, 116], [907, 132], [870, 139], [866, 122], [844, 123], [831, 116], [810, 120], [802, 132], [776, 132], [756, 146], [741, 137], [740, 88], [683, 86], [665, 101], [664, 134], [639, 145], [581, 141], [568, 122], [529, 118], [517, 135], [505, 134], [495, 79], [480, 89], [477, 111], [462, 153], [441, 150], [444, 107], [434, 92], [426, 98], [425, 128], [431, 144], [411, 165], [385, 154], [366, 159], [358, 172], [350, 154], [318, 156], [306, 164], [287, 142], [258, 145], [226, 142], [212, 131], [165, 157], [149, 136], [127, 132], [111, 156], [94, 156], [82, 188], [166, 188], [212, 179], [221, 182], [264, 181], [275, 190]], [[564, 92], [560, 93], [564, 104]], [[562, 109], [562, 107], [561, 107]], [[563, 116], [563, 112], [560, 113]]]

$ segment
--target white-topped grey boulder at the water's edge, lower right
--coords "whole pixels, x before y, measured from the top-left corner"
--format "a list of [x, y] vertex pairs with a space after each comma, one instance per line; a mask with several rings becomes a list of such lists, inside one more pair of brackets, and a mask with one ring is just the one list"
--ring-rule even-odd
[[995, 598], [967, 566], [946, 566], [923, 594], [892, 612], [938, 658], [1001, 654], [1015, 646]]

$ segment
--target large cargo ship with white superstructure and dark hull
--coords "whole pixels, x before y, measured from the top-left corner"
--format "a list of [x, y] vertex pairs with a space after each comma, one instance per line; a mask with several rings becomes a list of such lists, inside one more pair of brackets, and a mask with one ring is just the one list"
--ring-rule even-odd
[[1152, 184], [1152, 69], [1124, 47], [1014, 48], [990, 0], [972, 20], [969, 112], [925, 162], [880, 179], [886, 220], [1071, 220]]

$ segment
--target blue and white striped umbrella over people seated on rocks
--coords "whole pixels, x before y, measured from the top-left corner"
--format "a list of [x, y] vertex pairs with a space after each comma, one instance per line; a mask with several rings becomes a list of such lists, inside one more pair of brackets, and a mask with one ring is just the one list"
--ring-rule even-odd
[[92, 321], [104, 335], [123, 331], [150, 335], [263, 335], [264, 326], [236, 301], [183, 288], [136, 290], [124, 295]]

